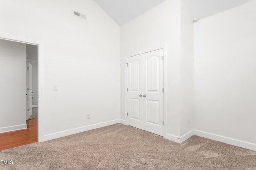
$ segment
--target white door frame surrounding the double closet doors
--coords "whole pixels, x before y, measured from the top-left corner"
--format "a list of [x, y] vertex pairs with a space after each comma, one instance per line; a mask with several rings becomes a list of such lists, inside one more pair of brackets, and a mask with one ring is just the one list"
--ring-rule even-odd
[[[130, 55], [125, 55], [125, 64], [128, 63], [128, 57], [132, 57], [135, 55], [139, 55], [139, 54], [144, 54], [144, 53], [148, 53], [150, 51], [156, 51], [158, 49], [163, 49], [163, 55], [164, 55], [164, 129], [163, 129], [163, 136], [164, 138], [166, 138], [166, 132], [167, 132], [167, 44], [163, 44], [163, 45], [158, 45], [155, 47], [151, 47], [148, 49], [144, 49], [141, 51], [138, 51], [136, 53], [132, 53]], [[126, 66], [126, 65], [125, 65]], [[127, 87], [128, 87], [128, 70], [127, 70], [127, 66], [125, 68], [125, 124], [128, 125], [128, 119], [127, 119]]]

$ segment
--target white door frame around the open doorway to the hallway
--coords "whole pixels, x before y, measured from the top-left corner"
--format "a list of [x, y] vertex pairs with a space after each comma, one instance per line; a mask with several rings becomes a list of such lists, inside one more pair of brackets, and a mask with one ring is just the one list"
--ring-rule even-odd
[[[43, 48], [44, 43], [42, 41], [29, 39], [26, 37], [19, 37], [15, 35], [0, 33], [0, 39], [14, 41], [18, 43], [25, 43], [31, 45], [37, 45], [38, 47], [38, 142], [43, 141], [43, 125], [44, 125], [44, 102], [43, 102]], [[40, 99], [40, 100], [39, 100]]]

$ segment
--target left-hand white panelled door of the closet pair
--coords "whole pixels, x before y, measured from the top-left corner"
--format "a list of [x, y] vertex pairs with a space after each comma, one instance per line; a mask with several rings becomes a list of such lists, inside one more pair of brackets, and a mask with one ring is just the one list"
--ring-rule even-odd
[[143, 129], [143, 55], [128, 58], [128, 125]]

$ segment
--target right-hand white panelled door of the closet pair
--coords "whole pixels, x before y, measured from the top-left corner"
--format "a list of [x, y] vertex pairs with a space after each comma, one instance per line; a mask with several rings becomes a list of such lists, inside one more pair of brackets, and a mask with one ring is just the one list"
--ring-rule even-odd
[[143, 129], [163, 136], [163, 49], [143, 54]]

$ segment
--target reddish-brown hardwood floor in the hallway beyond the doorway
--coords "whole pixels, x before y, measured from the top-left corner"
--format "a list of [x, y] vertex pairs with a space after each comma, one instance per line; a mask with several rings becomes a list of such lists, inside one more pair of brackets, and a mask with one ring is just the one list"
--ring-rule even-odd
[[37, 142], [37, 119], [27, 120], [27, 128], [28, 129], [0, 133], [0, 150]]

